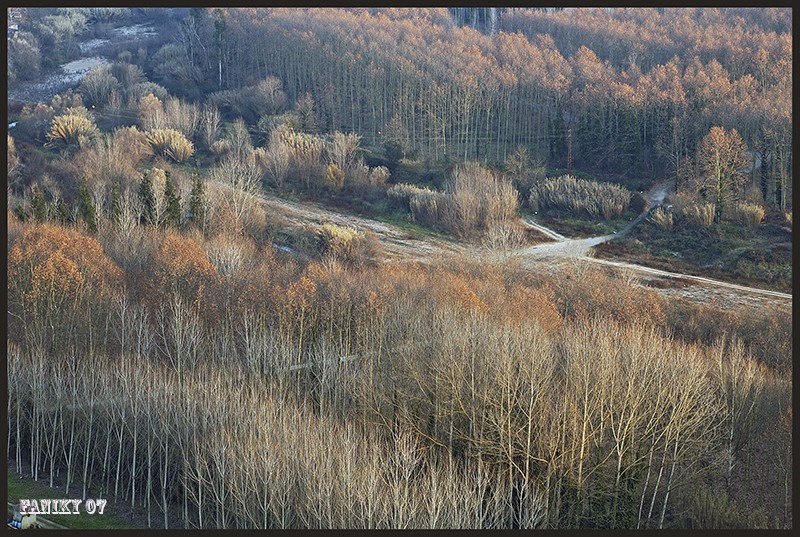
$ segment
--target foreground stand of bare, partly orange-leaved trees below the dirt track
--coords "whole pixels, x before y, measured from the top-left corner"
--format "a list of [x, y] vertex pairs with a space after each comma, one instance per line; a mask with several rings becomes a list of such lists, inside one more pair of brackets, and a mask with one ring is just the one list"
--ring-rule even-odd
[[788, 380], [621, 280], [121, 235], [10, 216], [8, 457], [151, 525], [703, 525], [790, 479]]

